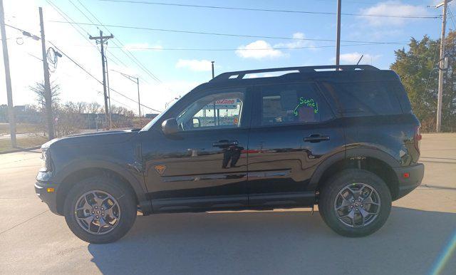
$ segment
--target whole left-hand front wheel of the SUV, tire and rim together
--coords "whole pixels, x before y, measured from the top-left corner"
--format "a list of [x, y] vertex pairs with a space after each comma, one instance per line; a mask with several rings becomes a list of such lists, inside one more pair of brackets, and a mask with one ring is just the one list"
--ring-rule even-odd
[[135, 197], [115, 179], [90, 177], [70, 190], [64, 214], [68, 227], [83, 241], [115, 242], [135, 222]]

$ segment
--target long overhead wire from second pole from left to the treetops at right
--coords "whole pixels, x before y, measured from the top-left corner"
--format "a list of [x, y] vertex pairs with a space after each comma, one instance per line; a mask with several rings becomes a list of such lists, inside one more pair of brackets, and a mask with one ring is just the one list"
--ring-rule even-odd
[[[66, 24], [68, 22], [64, 21], [56, 21], [51, 20], [49, 22], [53, 23], [63, 23]], [[249, 34], [236, 34], [236, 33], [212, 33], [206, 31], [183, 31], [183, 30], [175, 30], [169, 28], [148, 28], [148, 27], [140, 27], [140, 26], [125, 26], [125, 25], [113, 25], [113, 24], [92, 24], [92, 23], [83, 23], [83, 22], [74, 22], [74, 24], [80, 25], [88, 25], [88, 26], [109, 26], [111, 28], [131, 28], [137, 30], [145, 30], [145, 31], [165, 31], [165, 32], [172, 32], [172, 33], [190, 33], [190, 34], [204, 34], [204, 35], [212, 35], [212, 36], [232, 36], [232, 37], [247, 37], [247, 38], [268, 38], [268, 39], [284, 39], [284, 40], [297, 40], [297, 41], [326, 41], [326, 42], [334, 42], [333, 39], [319, 39], [319, 38], [297, 38], [297, 37], [284, 37], [284, 36], [257, 36], [257, 35], [249, 35]], [[393, 42], [383, 42], [383, 41], [349, 41], [343, 40], [341, 42], [348, 42], [348, 43], [385, 43], [385, 44], [397, 44], [397, 43], [406, 43], [408, 41], [393, 41]]]

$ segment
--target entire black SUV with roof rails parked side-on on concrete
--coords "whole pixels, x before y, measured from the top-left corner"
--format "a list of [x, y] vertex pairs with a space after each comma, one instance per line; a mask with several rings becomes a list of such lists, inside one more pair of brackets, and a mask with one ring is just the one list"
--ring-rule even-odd
[[137, 212], [314, 204], [335, 232], [361, 237], [420, 185], [420, 139], [393, 71], [237, 71], [199, 85], [141, 130], [47, 142], [35, 189], [92, 243], [123, 237]]

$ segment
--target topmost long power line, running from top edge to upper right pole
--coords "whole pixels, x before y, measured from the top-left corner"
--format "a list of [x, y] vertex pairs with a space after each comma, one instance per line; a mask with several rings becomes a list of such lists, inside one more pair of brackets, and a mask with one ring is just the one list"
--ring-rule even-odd
[[[286, 9], [252, 9], [252, 8], [238, 8], [233, 6], [203, 6], [203, 5], [191, 5], [191, 4], [171, 4], [162, 2], [151, 2], [151, 1], [128, 1], [128, 0], [98, 0], [115, 3], [129, 3], [129, 4], [148, 4], [148, 5], [160, 5], [160, 6], [184, 6], [190, 8], [202, 8], [202, 9], [229, 9], [237, 11], [267, 11], [267, 12], [279, 12], [288, 14], [324, 14], [324, 15], [335, 15], [336, 13], [327, 11], [294, 11]], [[403, 19], [439, 19], [440, 16], [409, 16], [409, 15], [388, 15], [388, 14], [342, 14], [344, 16], [371, 16], [371, 17], [392, 17], [392, 18], [403, 18]]]

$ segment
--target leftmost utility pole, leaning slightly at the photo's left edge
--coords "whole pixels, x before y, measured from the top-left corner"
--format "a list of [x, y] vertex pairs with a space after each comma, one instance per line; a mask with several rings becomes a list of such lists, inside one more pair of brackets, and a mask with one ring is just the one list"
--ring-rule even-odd
[[9, 56], [8, 44], [6, 43], [5, 31], [5, 13], [3, 9], [3, 0], [0, 0], [0, 29], [1, 29], [1, 46], [3, 46], [3, 60], [5, 65], [6, 79], [6, 97], [8, 98], [8, 120], [9, 136], [11, 137], [11, 147], [16, 148], [16, 120], [14, 118], [13, 90], [11, 88], [11, 76], [9, 75]]

